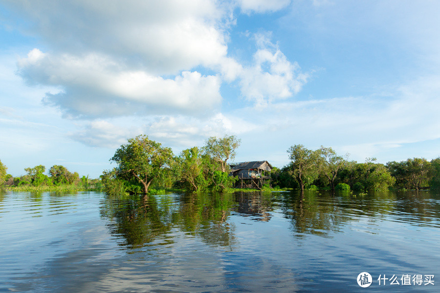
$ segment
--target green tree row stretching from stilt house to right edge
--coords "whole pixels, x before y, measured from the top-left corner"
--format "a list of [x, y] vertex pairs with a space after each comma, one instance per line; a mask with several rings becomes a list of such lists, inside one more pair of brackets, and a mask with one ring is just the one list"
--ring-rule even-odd
[[376, 158], [358, 163], [338, 155], [330, 147], [309, 150], [303, 145], [287, 150], [290, 162], [271, 172], [272, 185], [308, 189], [386, 190], [425, 189], [440, 187], [440, 158], [409, 158], [391, 161], [386, 165]]

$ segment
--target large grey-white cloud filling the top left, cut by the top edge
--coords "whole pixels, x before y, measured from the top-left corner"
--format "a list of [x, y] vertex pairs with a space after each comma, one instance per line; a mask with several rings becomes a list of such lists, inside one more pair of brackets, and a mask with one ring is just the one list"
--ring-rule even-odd
[[104, 53], [156, 74], [209, 66], [227, 51], [222, 20], [229, 15], [214, 0], [5, 4], [31, 21], [25, 28], [18, 24], [22, 29], [37, 33], [57, 51]]

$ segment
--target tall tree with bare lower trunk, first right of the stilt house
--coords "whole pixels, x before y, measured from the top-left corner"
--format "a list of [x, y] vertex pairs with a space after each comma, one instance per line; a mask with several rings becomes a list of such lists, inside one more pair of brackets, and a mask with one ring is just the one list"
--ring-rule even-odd
[[304, 186], [318, 178], [320, 152], [309, 150], [302, 144], [295, 144], [287, 153], [290, 159], [290, 173], [298, 181], [301, 192], [304, 192]]

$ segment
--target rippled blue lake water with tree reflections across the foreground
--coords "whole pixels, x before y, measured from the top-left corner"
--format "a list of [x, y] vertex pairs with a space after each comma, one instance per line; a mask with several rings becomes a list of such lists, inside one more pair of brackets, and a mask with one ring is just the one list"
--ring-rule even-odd
[[440, 292], [439, 232], [432, 191], [7, 192], [0, 292]]

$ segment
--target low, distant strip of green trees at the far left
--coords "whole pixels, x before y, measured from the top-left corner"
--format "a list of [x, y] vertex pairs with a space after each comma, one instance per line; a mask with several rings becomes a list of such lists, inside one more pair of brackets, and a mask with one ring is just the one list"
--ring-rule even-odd
[[7, 187], [75, 185], [87, 188], [100, 185], [99, 179], [89, 179], [88, 176], [80, 178], [77, 172], [71, 173], [62, 165], [53, 165], [50, 167], [48, 171], [49, 176], [44, 174], [46, 171], [44, 165], [24, 168], [26, 174], [20, 177], [13, 177], [11, 174], [6, 174], [6, 170], [7, 167], [0, 161], [0, 185], [3, 184]]

